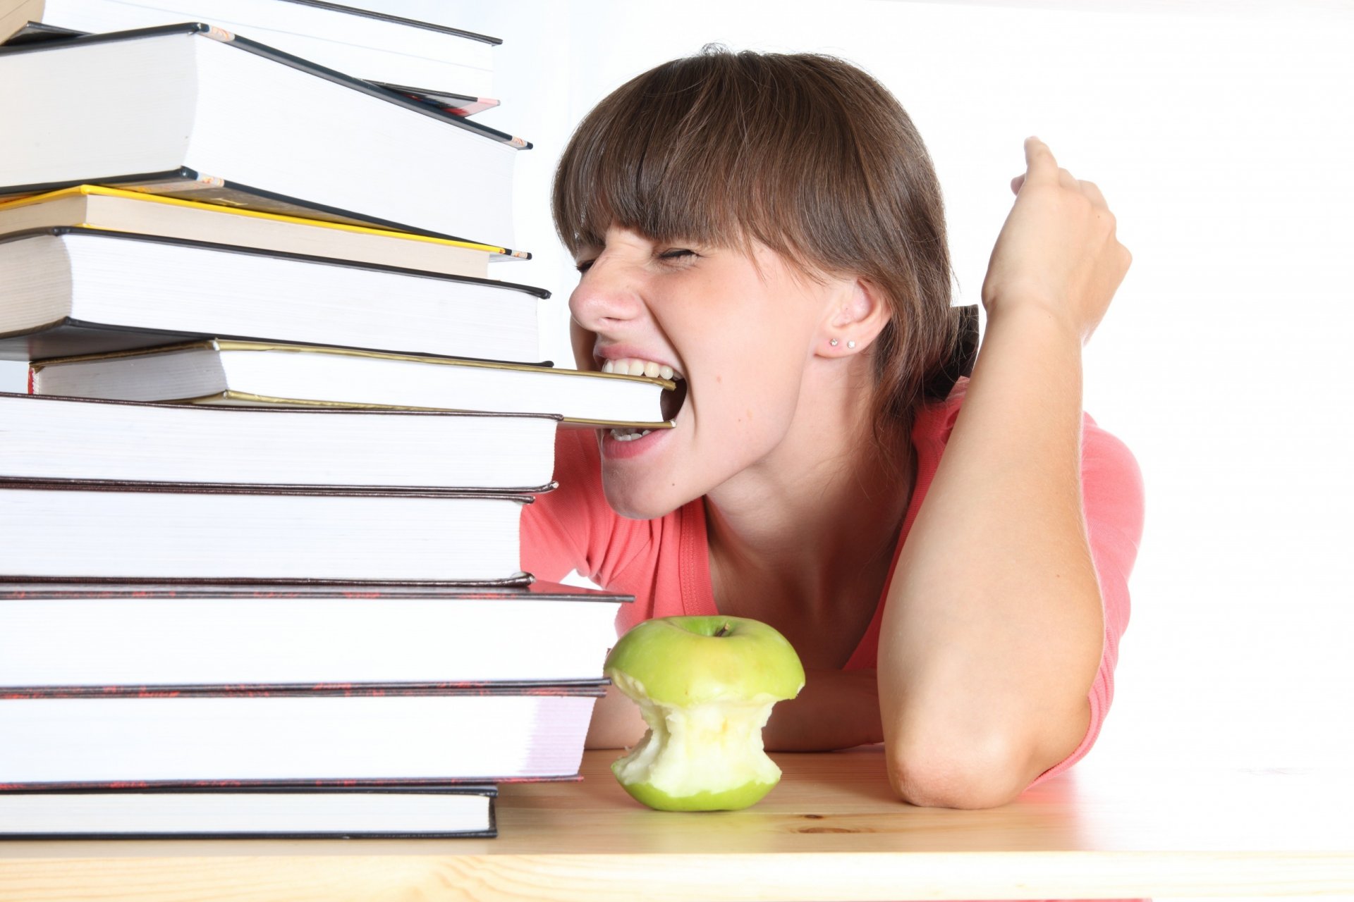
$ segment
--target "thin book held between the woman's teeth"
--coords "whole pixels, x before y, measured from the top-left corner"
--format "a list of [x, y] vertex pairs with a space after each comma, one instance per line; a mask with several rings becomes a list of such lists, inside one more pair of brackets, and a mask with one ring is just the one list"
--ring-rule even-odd
[[34, 395], [558, 414], [582, 426], [670, 427], [681, 383], [646, 376], [204, 341], [34, 361]]

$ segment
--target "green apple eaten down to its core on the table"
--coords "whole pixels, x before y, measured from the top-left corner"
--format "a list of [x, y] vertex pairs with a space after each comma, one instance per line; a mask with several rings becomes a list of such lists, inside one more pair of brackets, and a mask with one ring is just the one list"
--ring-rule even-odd
[[649, 725], [611, 765], [639, 802], [665, 811], [737, 810], [780, 782], [761, 732], [776, 702], [803, 688], [804, 668], [773, 627], [738, 617], [645, 621], [612, 649], [605, 673]]

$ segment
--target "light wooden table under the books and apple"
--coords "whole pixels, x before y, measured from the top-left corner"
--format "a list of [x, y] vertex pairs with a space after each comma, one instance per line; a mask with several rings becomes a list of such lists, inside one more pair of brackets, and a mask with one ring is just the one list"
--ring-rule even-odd
[[496, 840], [0, 842], [0, 899], [923, 899], [1354, 894], [1354, 769], [1087, 761], [988, 811], [890, 797], [877, 748], [773, 756], [746, 811], [502, 787]]

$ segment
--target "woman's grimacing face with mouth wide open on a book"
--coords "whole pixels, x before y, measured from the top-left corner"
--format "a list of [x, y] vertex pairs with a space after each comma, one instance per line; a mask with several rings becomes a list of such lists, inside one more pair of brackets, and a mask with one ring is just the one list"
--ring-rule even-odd
[[[600, 430], [607, 500], [661, 517], [756, 467], [774, 467], [841, 284], [800, 277], [776, 253], [654, 242], [612, 227], [578, 253], [569, 299], [584, 369], [651, 364], [686, 383], [674, 429]], [[835, 292], [835, 293], [834, 293]]]

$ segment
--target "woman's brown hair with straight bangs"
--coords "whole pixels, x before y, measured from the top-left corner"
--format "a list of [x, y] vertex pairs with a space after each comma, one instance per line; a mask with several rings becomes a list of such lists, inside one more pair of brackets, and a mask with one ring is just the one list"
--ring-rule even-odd
[[940, 183], [898, 100], [842, 60], [707, 46], [650, 69], [580, 123], [552, 208], [574, 254], [616, 224], [655, 241], [757, 241], [804, 275], [873, 283], [892, 307], [873, 352], [881, 448], [953, 385], [964, 316], [951, 308]]

